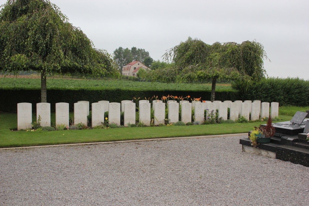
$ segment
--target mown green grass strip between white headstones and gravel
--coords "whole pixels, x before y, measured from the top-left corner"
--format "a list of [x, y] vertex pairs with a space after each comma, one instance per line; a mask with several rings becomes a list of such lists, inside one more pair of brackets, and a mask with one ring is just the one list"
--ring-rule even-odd
[[[280, 115], [279, 117], [282, 119], [281, 121], [289, 121], [292, 118], [291, 116], [283, 115]], [[35, 116], [33, 117], [33, 120], [35, 120]], [[0, 113], [0, 148], [246, 133], [249, 130], [252, 130], [254, 126], [259, 126], [260, 124], [262, 124], [262, 122], [170, 127], [62, 130], [53, 132], [21, 132], [11, 131], [11, 129], [17, 128], [16, 113]]]

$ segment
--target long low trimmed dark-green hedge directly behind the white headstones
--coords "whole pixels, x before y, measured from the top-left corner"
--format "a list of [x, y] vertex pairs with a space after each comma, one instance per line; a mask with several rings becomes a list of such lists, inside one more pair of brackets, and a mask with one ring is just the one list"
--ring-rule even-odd
[[[41, 92], [38, 89], [0, 89], [0, 111], [15, 112], [17, 111], [17, 103], [32, 103], [32, 111], [36, 111], [36, 103], [40, 103]], [[100, 100], [109, 102], [121, 102], [122, 100], [132, 100], [133, 97], [145, 97], [173, 95], [187, 96], [191, 98], [202, 98], [202, 100], [210, 100], [210, 91], [181, 91], [181, 90], [124, 90], [124, 89], [47, 89], [47, 102], [50, 103], [51, 111], [55, 111], [55, 104], [59, 102], [69, 103], [70, 111], [74, 111], [74, 103], [84, 100], [91, 103]], [[217, 91], [216, 100], [239, 100], [237, 91]]]

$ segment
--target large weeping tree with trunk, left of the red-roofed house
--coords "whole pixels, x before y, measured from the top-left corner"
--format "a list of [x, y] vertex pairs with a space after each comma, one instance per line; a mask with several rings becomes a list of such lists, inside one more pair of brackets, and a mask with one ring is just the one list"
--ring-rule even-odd
[[110, 55], [95, 49], [79, 27], [49, 0], [9, 0], [0, 11], [0, 71], [41, 74], [41, 102], [46, 102], [46, 74], [119, 76]]

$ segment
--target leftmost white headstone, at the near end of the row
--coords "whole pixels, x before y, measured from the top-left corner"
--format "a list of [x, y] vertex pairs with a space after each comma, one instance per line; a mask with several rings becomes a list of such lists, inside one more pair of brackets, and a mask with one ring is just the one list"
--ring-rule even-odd
[[32, 104], [17, 104], [17, 129], [32, 128]]

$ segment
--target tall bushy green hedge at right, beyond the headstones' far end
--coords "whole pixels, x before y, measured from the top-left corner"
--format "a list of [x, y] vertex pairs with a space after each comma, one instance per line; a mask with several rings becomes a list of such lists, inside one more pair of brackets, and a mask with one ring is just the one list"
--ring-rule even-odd
[[279, 106], [309, 105], [309, 80], [300, 78], [262, 78], [260, 81], [232, 82], [240, 99], [259, 99], [261, 102], [278, 102]]

